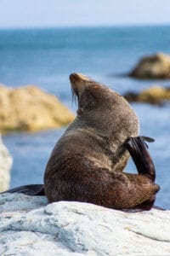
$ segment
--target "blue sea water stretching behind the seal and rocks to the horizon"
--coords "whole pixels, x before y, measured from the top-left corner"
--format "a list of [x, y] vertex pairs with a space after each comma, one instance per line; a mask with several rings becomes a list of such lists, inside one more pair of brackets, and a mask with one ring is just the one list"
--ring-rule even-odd
[[[127, 73], [143, 55], [170, 54], [170, 26], [58, 28], [0, 31], [0, 83], [10, 87], [37, 84], [53, 93], [68, 108], [71, 104], [69, 74], [85, 73], [120, 93], [140, 91], [153, 84], [170, 86], [169, 80], [137, 80]], [[154, 137], [150, 154], [161, 185], [156, 204], [170, 208], [170, 105], [133, 103], [139, 115], [140, 134]], [[65, 128], [3, 136], [14, 157], [11, 188], [42, 183], [48, 156]], [[135, 172], [133, 162], [127, 172]]]

